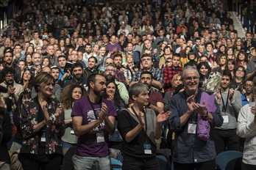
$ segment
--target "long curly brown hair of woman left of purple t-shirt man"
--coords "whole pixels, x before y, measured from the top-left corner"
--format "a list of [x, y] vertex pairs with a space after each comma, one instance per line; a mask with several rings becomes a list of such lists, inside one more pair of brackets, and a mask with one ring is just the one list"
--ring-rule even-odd
[[72, 107], [72, 92], [75, 88], [80, 88], [82, 91], [82, 97], [88, 96], [88, 93], [86, 89], [83, 86], [80, 86], [77, 83], [68, 84], [68, 86], [65, 86], [63, 89], [63, 93], [60, 95], [60, 102], [63, 103], [65, 106], [65, 109], [69, 109]]

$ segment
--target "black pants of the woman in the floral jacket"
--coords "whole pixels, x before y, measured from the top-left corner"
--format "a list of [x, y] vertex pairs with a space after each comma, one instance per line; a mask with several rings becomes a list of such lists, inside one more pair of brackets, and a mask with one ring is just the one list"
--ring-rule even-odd
[[34, 154], [21, 154], [20, 161], [24, 170], [57, 170], [60, 169], [62, 163], [62, 155], [51, 154], [48, 162], [35, 159]]

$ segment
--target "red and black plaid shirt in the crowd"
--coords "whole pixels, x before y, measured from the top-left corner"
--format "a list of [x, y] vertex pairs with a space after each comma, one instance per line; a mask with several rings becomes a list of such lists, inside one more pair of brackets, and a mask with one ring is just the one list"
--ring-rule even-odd
[[166, 67], [163, 70], [163, 89], [165, 89], [165, 92], [171, 91], [171, 81], [174, 75], [181, 73], [184, 68], [177, 67], [176, 69], [174, 67]]

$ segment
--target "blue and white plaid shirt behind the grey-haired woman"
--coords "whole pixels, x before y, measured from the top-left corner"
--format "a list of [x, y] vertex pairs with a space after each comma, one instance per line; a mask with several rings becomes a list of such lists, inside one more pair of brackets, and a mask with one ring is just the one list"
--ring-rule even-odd
[[[139, 81], [141, 79], [142, 72], [143, 69], [136, 71], [135, 74], [132, 76], [132, 80], [130, 82]], [[159, 68], [152, 67], [152, 70], [150, 70], [150, 72], [152, 73], [154, 80], [159, 81], [161, 84], [163, 84], [163, 73]], [[155, 92], [159, 92], [157, 89], [153, 88], [153, 90]]]

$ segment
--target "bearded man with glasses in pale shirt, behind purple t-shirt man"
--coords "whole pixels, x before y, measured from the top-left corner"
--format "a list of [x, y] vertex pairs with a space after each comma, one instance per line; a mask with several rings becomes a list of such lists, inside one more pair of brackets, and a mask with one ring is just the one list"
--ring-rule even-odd
[[107, 81], [115, 80], [115, 84], [118, 86], [118, 90], [121, 98], [124, 100], [125, 104], [128, 104], [129, 95], [128, 95], [127, 87], [122, 82], [117, 81], [115, 79], [115, 73], [116, 73], [115, 66], [113, 64], [108, 64], [105, 67], [104, 77], [107, 79]]

